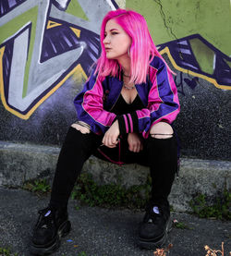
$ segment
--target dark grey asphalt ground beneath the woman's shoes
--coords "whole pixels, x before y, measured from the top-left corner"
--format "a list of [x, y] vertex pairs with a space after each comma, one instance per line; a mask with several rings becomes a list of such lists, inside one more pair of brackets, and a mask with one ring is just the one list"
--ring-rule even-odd
[[[0, 188], [0, 248], [10, 247], [19, 256], [30, 255], [30, 229], [38, 209], [46, 206], [47, 201], [48, 198], [39, 199], [25, 190]], [[78, 201], [69, 203], [72, 230], [54, 256], [153, 256], [153, 250], [140, 250], [136, 243], [143, 213], [88, 206], [76, 210], [76, 205]], [[229, 255], [231, 222], [200, 219], [187, 213], [172, 216], [190, 229], [173, 228], [167, 242], [173, 248], [167, 255], [205, 256], [204, 245], [220, 249], [223, 241], [224, 256]]]

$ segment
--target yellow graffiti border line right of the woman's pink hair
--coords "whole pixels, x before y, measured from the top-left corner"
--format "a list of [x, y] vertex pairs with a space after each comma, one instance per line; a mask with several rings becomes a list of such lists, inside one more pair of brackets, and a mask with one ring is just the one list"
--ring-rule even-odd
[[201, 78], [201, 79], [205, 79], [211, 83], [213, 83], [213, 85], [218, 88], [218, 89], [224, 89], [224, 90], [231, 90], [230, 86], [227, 86], [227, 85], [221, 85], [219, 83], [217, 83], [217, 81], [215, 79], [212, 79], [212, 78], [209, 78], [205, 75], [201, 75], [199, 73], [196, 73], [196, 72], [193, 72], [193, 71], [190, 71], [188, 69], [185, 69], [185, 68], [182, 68], [182, 67], [179, 67], [176, 65], [176, 62], [173, 58], [173, 56], [171, 55], [170, 51], [169, 51], [169, 48], [168, 47], [165, 47], [161, 52], [160, 52], [161, 55], [164, 55], [166, 54], [169, 58], [169, 60], [171, 61], [172, 65], [176, 68], [176, 70], [179, 70], [183, 73], [186, 73], [186, 74], [189, 74], [193, 77], [198, 77], [198, 78]]

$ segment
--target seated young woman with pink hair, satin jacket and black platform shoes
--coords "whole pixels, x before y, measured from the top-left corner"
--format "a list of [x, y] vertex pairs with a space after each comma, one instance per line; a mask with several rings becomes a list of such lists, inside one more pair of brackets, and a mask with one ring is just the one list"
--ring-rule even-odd
[[53, 252], [67, 235], [67, 201], [82, 165], [96, 153], [117, 164], [149, 165], [151, 200], [139, 228], [142, 248], [161, 246], [170, 228], [168, 195], [177, 168], [171, 123], [179, 113], [176, 85], [145, 19], [110, 11], [101, 28], [102, 54], [74, 104], [78, 121], [61, 149], [49, 206], [40, 211], [31, 252]]

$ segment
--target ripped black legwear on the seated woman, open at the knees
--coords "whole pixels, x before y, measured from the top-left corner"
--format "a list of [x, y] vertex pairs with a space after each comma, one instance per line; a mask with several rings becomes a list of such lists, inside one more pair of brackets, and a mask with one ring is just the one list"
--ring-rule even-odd
[[[94, 154], [108, 160], [97, 149], [102, 149], [102, 136], [92, 132], [82, 134], [76, 128], [70, 127], [66, 140], [60, 151], [55, 178], [53, 181], [50, 205], [59, 208], [67, 207], [71, 191], [85, 161]], [[175, 136], [168, 139], [155, 139], [151, 136], [143, 140], [143, 150], [130, 152], [127, 140], [121, 140], [121, 159], [123, 163], [138, 163], [150, 166], [152, 177], [152, 195], [154, 203], [167, 201], [177, 170], [177, 142]], [[116, 149], [104, 149], [104, 154], [115, 156]]]

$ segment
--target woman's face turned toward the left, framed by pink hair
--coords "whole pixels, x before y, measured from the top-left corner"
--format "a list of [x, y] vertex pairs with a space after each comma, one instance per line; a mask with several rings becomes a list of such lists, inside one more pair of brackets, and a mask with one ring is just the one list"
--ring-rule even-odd
[[106, 23], [103, 44], [107, 58], [120, 59], [124, 56], [128, 57], [131, 39], [114, 19], [110, 19]]

